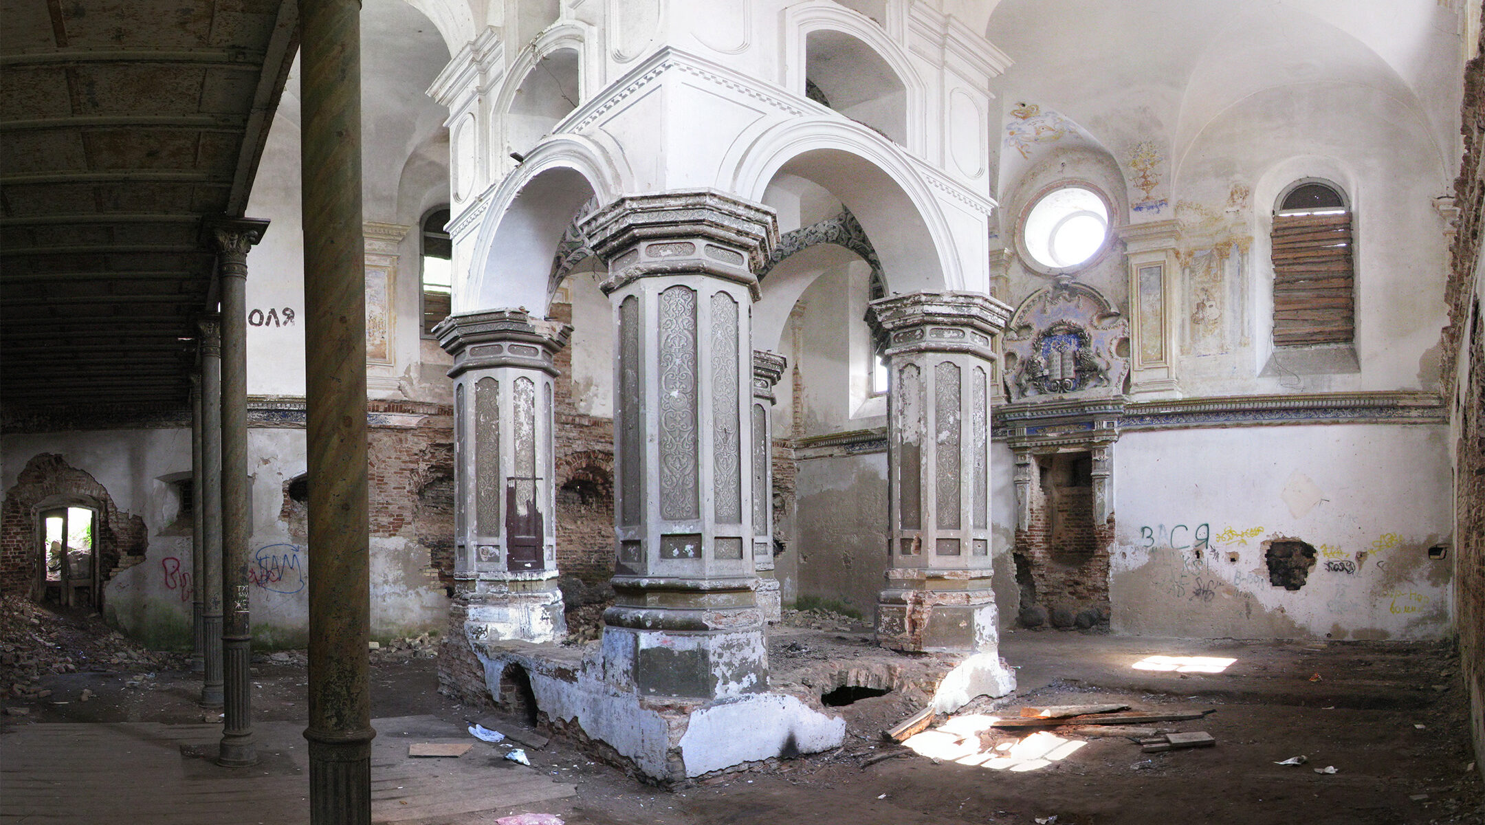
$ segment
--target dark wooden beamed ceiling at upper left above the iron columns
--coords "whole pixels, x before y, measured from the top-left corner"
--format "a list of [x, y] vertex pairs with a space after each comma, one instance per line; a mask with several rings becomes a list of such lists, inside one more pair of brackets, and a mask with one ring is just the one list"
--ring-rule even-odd
[[0, 408], [184, 405], [296, 0], [0, 0]]

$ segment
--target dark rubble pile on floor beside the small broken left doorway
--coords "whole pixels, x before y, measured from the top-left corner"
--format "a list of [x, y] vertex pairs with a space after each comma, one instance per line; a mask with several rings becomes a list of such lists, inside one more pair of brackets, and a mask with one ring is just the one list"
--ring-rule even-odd
[[146, 650], [108, 628], [97, 613], [53, 610], [18, 595], [0, 595], [0, 686], [12, 696], [45, 697], [39, 683], [48, 674], [186, 666], [187, 654]]

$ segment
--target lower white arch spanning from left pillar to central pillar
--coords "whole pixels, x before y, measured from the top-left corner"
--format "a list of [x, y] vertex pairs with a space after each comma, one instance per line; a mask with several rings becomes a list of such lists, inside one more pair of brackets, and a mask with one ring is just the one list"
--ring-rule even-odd
[[453, 312], [526, 307], [545, 316], [552, 258], [573, 215], [622, 191], [618, 166], [591, 139], [560, 134], [536, 144], [487, 194], [469, 269], [454, 279]]

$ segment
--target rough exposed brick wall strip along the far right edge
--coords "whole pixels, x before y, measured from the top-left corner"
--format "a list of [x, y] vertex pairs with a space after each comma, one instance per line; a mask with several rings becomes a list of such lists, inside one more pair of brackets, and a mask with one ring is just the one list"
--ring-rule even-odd
[[[1485, 31], [1481, 56], [1464, 68], [1464, 160], [1454, 183], [1460, 223], [1451, 251], [1449, 326], [1443, 334], [1445, 399], [1457, 399], [1454, 592], [1460, 659], [1470, 693], [1475, 764], [1485, 776], [1485, 319], [1476, 279], [1485, 229]], [[1464, 361], [1458, 377], [1457, 359]], [[1461, 380], [1463, 386], [1455, 387]], [[1458, 395], [1455, 395], [1458, 389]]]

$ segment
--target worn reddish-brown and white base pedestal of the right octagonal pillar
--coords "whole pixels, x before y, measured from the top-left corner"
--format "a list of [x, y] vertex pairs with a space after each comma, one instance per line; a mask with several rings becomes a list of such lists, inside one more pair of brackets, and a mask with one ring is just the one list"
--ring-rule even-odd
[[999, 611], [989, 571], [888, 570], [876, 641], [912, 653], [995, 653]]

